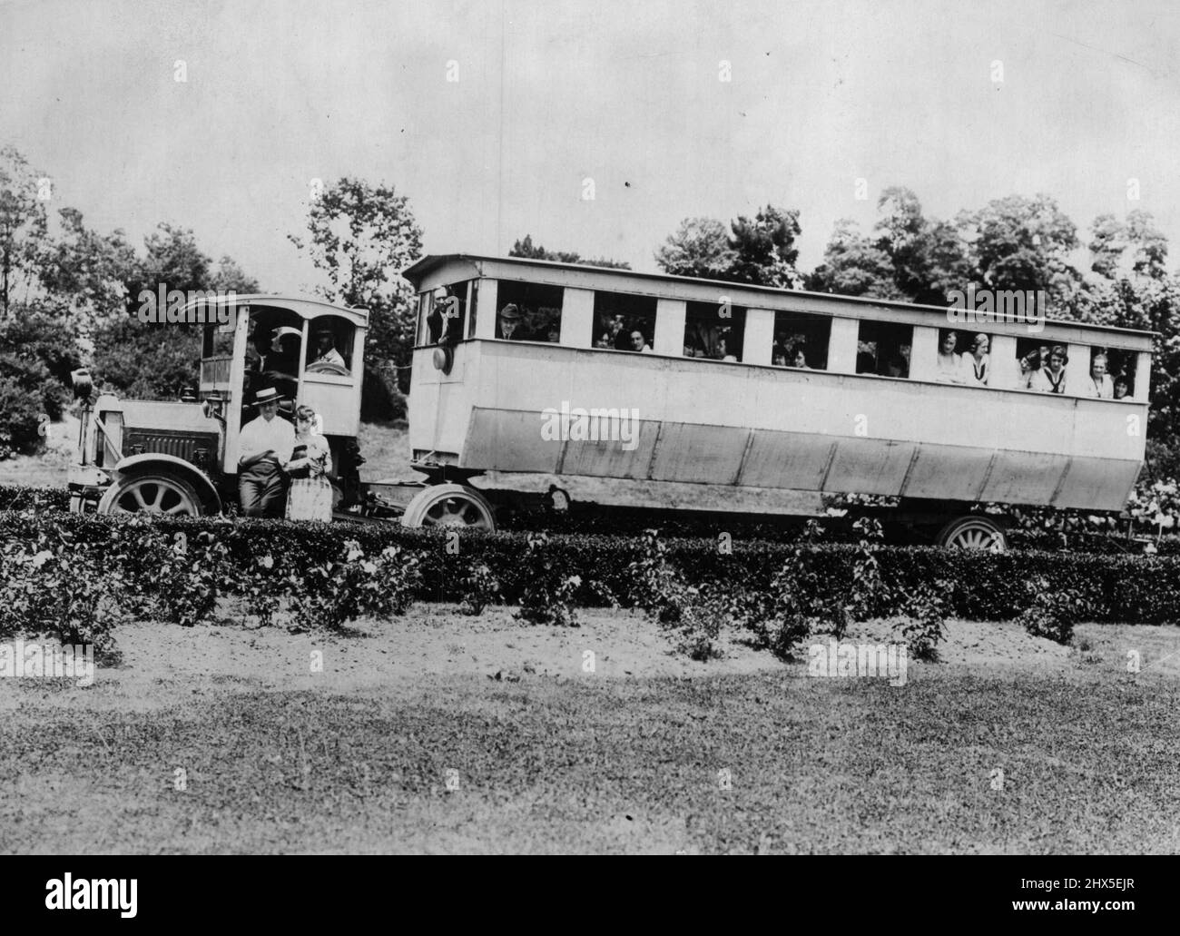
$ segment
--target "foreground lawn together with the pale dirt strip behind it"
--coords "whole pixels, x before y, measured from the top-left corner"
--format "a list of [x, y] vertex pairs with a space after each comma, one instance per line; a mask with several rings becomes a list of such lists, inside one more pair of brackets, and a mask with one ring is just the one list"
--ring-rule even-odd
[[975, 662], [891, 687], [676, 660], [620, 611], [139, 624], [90, 688], [0, 680], [0, 850], [1175, 852], [1178, 633], [952, 623]]

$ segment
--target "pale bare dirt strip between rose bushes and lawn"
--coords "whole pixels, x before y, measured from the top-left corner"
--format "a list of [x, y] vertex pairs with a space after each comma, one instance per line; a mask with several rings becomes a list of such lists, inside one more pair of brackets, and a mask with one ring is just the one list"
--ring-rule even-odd
[[[175, 705], [179, 696], [201, 694], [203, 687], [347, 694], [434, 675], [484, 675], [509, 682], [691, 679], [805, 666], [784, 663], [752, 649], [740, 635], [725, 634], [722, 659], [695, 662], [674, 654], [658, 628], [637, 613], [586, 610], [579, 620], [577, 628], [535, 627], [516, 621], [509, 608], [467, 617], [454, 606], [419, 604], [405, 617], [361, 622], [350, 635], [291, 634], [235, 623], [183, 628], [138, 622], [118, 630], [123, 660], [99, 666], [99, 692], [60, 693], [47, 687], [46, 698], [67, 706], [133, 712]], [[868, 622], [854, 624], [845, 640], [881, 643], [897, 637], [887, 623]], [[1132, 650], [1143, 669], [1180, 676], [1180, 629], [1082, 624], [1075, 646], [1063, 647], [1030, 636], [1014, 623], [972, 621], [949, 622], [939, 662], [911, 661], [910, 672], [917, 679], [949, 675], [962, 666], [1076, 674], [1095, 663], [1125, 668]], [[14, 688], [11, 680], [0, 680], [0, 708], [17, 705]]]

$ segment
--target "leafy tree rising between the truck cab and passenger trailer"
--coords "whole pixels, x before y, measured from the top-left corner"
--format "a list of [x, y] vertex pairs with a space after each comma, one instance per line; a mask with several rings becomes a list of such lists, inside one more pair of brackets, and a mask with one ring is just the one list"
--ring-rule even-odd
[[400, 274], [422, 253], [409, 199], [392, 185], [337, 179], [312, 205], [308, 235], [289, 240], [327, 275], [328, 284], [320, 287], [324, 299], [368, 309], [363, 393], [385, 402], [367, 412], [394, 418], [409, 390], [415, 330], [413, 292]]

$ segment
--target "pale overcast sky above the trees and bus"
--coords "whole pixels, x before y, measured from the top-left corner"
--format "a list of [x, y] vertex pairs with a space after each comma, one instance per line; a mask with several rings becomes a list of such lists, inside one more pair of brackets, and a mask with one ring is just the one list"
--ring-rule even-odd
[[407, 195], [428, 253], [654, 270], [681, 218], [769, 202], [809, 269], [907, 185], [937, 217], [1043, 191], [1083, 241], [1143, 208], [1175, 267], [1178, 50], [1172, 0], [4, 1], [0, 143], [92, 227], [191, 227], [275, 292], [315, 282], [287, 235], [343, 175]]

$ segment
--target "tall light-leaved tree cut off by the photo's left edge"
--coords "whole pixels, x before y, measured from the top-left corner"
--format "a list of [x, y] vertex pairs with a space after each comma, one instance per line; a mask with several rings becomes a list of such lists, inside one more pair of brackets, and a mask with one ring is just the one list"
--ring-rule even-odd
[[14, 148], [0, 149], [0, 316], [8, 316], [15, 290], [28, 297], [45, 250], [48, 227], [45, 202], [38, 198], [40, 177]]

